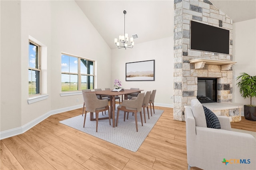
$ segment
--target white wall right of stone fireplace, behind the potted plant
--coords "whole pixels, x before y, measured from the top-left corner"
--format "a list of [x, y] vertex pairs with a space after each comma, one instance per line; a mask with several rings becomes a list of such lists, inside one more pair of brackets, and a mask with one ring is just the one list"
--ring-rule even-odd
[[[237, 22], [233, 24], [233, 60], [237, 61], [232, 66], [233, 75], [238, 77], [240, 73], [256, 75], [256, 19]], [[244, 99], [236, 85], [238, 81], [233, 79], [233, 102], [243, 105], [250, 104], [250, 99]], [[256, 99], [253, 98], [256, 105]]]

